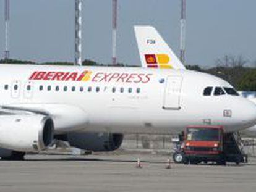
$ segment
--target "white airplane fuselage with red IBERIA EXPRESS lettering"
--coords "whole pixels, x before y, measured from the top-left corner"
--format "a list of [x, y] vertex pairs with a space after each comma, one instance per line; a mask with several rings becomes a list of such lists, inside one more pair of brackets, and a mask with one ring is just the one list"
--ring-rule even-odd
[[[1, 106], [51, 115], [56, 133], [177, 133], [189, 125], [254, 125], [256, 109], [241, 96], [203, 95], [232, 88], [189, 70], [0, 65]], [[244, 111], [241, 111], [244, 106]]]

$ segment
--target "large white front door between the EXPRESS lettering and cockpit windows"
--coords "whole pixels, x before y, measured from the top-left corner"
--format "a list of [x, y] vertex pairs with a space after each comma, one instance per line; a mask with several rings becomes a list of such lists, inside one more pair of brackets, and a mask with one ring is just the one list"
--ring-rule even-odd
[[181, 109], [181, 76], [169, 76], [166, 81], [164, 91], [163, 109], [178, 110]]

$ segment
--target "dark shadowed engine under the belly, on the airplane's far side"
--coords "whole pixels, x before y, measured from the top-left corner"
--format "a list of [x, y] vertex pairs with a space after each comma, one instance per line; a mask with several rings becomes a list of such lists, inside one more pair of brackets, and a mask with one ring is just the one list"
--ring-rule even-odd
[[123, 135], [109, 133], [69, 133], [67, 141], [75, 148], [87, 151], [114, 151], [122, 144]]

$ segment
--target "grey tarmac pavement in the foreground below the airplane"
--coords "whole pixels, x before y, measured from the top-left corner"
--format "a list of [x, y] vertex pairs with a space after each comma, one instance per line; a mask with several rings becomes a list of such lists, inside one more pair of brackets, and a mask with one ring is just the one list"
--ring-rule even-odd
[[[137, 158], [142, 168], [136, 168]], [[0, 161], [0, 191], [255, 191], [256, 159], [227, 166], [183, 165], [158, 154], [29, 155]]]

